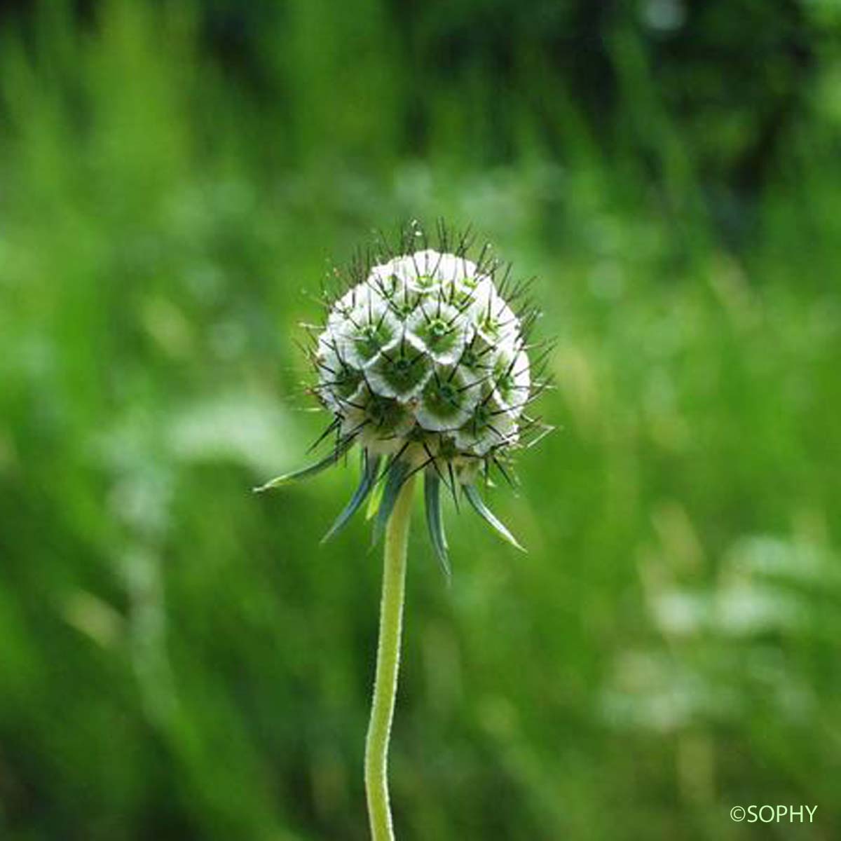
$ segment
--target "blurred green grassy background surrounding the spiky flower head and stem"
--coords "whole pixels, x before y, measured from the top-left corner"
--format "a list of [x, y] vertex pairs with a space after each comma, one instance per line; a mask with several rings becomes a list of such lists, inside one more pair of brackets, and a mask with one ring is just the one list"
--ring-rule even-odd
[[[410, 546], [399, 838], [841, 835], [837, 0], [6, 3], [0, 837], [367, 837], [380, 558], [299, 321], [535, 274], [560, 430]], [[420, 516], [420, 511], [418, 511]], [[421, 522], [417, 522], [421, 526]], [[737, 824], [733, 806], [817, 806]]]

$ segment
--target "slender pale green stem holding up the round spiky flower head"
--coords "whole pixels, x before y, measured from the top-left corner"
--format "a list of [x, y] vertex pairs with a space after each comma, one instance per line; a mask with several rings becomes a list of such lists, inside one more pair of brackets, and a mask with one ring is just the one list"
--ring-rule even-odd
[[415, 477], [400, 490], [385, 532], [383, 596], [379, 607], [377, 674], [373, 685], [371, 720], [365, 740], [365, 792], [373, 841], [394, 841], [389, 808], [389, 736], [397, 694], [400, 630], [406, 581], [406, 547], [409, 542], [412, 493]]

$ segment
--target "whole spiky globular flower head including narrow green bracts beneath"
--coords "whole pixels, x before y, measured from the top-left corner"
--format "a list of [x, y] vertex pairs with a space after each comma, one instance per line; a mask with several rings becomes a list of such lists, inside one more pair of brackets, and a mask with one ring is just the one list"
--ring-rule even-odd
[[[472, 259], [469, 235], [442, 225], [435, 246], [417, 225], [397, 247], [381, 242], [376, 256], [357, 260], [344, 288], [327, 293], [325, 323], [313, 331], [313, 393], [332, 414], [326, 435], [335, 448], [305, 471], [336, 463], [354, 444], [362, 449], [362, 482], [330, 534], [383, 480], [375, 535], [399, 488], [425, 471], [427, 521], [447, 564], [440, 485], [457, 485], [473, 507], [511, 542], [484, 507], [475, 482], [496, 466], [506, 479], [510, 453], [543, 430], [527, 407], [545, 387], [530, 352], [537, 310], [527, 283], [486, 246]], [[537, 368], [540, 368], [539, 360]], [[381, 464], [385, 467], [381, 469]]]

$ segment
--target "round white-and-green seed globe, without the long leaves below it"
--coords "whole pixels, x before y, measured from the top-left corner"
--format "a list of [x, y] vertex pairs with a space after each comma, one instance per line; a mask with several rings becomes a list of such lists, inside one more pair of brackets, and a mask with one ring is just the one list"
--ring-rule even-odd
[[[497, 286], [497, 267], [463, 242], [424, 243], [357, 271], [317, 337], [315, 391], [343, 434], [374, 456], [405, 445], [415, 462], [449, 436], [457, 470], [516, 446], [534, 389], [521, 302]], [[393, 401], [387, 423], [366, 414], [362, 393], [366, 407]]]

